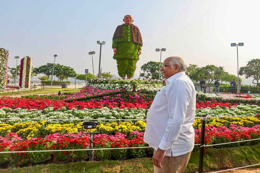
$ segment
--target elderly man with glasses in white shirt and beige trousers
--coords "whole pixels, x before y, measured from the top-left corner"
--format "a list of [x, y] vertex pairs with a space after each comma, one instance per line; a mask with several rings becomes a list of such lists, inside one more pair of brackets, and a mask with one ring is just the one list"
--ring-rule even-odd
[[160, 70], [166, 86], [149, 109], [144, 141], [154, 149], [154, 173], [181, 173], [194, 148], [195, 87], [180, 57], [166, 58]]

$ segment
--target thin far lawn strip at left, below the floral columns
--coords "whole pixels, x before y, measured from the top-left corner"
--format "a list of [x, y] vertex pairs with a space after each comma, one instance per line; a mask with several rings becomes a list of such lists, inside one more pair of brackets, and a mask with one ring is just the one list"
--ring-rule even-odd
[[31, 90], [31, 91], [24, 91], [19, 93], [2, 93], [0, 96], [14, 96], [14, 95], [27, 95], [27, 94], [47, 94], [47, 93], [58, 93], [61, 92], [71, 92], [74, 93], [76, 91], [80, 91], [80, 89], [72, 89], [72, 88], [48, 88], [45, 87], [44, 89], [39, 90]]

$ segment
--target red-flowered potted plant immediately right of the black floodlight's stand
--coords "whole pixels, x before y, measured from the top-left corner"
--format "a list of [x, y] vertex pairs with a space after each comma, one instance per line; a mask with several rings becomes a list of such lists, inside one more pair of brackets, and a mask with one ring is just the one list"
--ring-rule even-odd
[[[94, 136], [93, 148], [110, 148], [110, 136], [106, 134], [99, 134]], [[96, 160], [108, 160], [111, 157], [110, 150], [95, 150]]]

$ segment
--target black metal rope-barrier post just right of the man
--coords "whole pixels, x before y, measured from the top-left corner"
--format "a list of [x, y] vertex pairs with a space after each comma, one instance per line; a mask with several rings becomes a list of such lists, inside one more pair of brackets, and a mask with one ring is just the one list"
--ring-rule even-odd
[[201, 148], [199, 153], [199, 167], [198, 172], [203, 172], [203, 157], [204, 157], [204, 142], [205, 142], [205, 125], [206, 125], [206, 115], [202, 115], [203, 119], [201, 122]]

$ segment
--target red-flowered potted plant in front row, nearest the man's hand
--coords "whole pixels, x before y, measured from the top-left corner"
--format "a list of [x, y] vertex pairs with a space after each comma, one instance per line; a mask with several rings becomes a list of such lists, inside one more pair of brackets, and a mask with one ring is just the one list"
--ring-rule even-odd
[[[143, 137], [137, 137], [130, 140], [130, 146], [132, 147], [143, 147], [145, 146], [145, 142], [143, 141]], [[144, 157], [145, 156], [145, 148], [138, 149], [129, 149], [130, 156], [133, 158]]]

